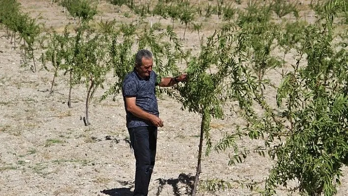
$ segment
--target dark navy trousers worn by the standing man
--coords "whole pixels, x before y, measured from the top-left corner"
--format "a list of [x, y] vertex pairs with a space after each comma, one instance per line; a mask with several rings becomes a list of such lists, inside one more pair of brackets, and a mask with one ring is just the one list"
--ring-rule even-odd
[[157, 127], [128, 128], [136, 160], [134, 196], [147, 196], [155, 166]]

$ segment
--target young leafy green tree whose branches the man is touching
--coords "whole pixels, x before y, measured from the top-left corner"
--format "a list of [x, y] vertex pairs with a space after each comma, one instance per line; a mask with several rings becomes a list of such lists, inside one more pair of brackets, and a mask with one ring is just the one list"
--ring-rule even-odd
[[[201, 53], [193, 56], [187, 63], [187, 83], [177, 87], [180, 92], [182, 108], [189, 112], [197, 112], [202, 116], [199, 154], [194, 187], [191, 195], [195, 196], [202, 171], [203, 140], [206, 140], [206, 155], [213, 148], [210, 139], [211, 118], [222, 118], [223, 107], [228, 101], [237, 101], [239, 110], [249, 113], [252, 111], [253, 93], [257, 90], [257, 80], [251, 76], [247, 67], [236, 62], [234, 55], [238, 48], [233, 44], [237, 41], [233, 28], [225, 26], [207, 38]], [[208, 72], [215, 68], [216, 73]], [[234, 110], [231, 108], [231, 110]], [[238, 134], [234, 135], [237, 136]], [[232, 147], [234, 136], [217, 143], [214, 149]], [[237, 149], [235, 148], [237, 151]]]

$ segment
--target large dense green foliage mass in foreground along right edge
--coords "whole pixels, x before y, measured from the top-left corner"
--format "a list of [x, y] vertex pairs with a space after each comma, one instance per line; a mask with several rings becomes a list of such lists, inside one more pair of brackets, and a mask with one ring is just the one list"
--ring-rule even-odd
[[341, 168], [348, 164], [348, 54], [347, 39], [335, 41], [334, 19], [346, 11], [346, 3], [327, 1], [315, 24], [302, 24], [301, 29], [293, 28], [299, 22], [288, 23], [284, 37], [278, 39], [296, 51], [296, 63], [282, 73], [277, 108], [256, 97], [264, 113], [248, 117], [251, 126], [245, 128], [255, 138], [267, 133], [265, 147], [271, 158], [277, 158], [265, 195], [275, 194], [277, 185], [287, 187], [291, 180], [299, 181], [295, 189], [300, 193], [337, 193]]

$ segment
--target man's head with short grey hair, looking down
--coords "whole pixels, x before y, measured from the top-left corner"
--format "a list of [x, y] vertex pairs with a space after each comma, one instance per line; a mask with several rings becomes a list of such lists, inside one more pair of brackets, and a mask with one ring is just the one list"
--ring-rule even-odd
[[140, 50], [135, 56], [135, 68], [140, 77], [146, 78], [150, 76], [152, 71], [153, 60], [152, 53], [148, 50]]

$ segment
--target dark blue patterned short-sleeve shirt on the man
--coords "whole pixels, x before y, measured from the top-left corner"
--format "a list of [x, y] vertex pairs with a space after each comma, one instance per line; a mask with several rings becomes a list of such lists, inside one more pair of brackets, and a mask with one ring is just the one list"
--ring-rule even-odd
[[[123, 80], [122, 95], [124, 107], [126, 108], [126, 97], [136, 97], [135, 104], [148, 113], [159, 116], [157, 98], [156, 98], [156, 80], [157, 74], [151, 71], [150, 76], [146, 79], [141, 78], [133, 70], [128, 73]], [[126, 110], [127, 128], [154, 126], [150, 121], [139, 118]]]

